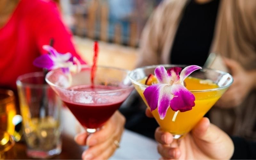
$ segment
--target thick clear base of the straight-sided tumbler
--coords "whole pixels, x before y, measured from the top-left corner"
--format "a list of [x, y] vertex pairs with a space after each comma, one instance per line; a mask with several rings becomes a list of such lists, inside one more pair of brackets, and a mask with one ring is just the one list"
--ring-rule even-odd
[[31, 158], [36, 159], [49, 159], [53, 156], [59, 155], [61, 153], [61, 144], [57, 145], [56, 148], [49, 150], [49, 151], [42, 151], [38, 149], [27, 149], [27, 155]]

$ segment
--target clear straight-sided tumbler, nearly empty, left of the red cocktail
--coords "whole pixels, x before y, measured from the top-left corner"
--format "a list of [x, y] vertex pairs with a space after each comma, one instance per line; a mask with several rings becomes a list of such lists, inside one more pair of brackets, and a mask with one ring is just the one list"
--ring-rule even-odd
[[17, 79], [23, 135], [27, 155], [46, 159], [61, 152], [61, 100], [45, 82], [43, 72], [33, 72]]

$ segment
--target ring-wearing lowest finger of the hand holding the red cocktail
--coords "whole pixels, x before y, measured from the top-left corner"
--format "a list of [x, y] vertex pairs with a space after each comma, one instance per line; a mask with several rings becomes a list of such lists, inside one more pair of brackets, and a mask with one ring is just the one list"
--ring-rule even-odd
[[[118, 141], [120, 140], [117, 139]], [[109, 148], [111, 148], [109, 150]], [[100, 143], [96, 146], [89, 147], [84, 153], [82, 154], [83, 159], [95, 159], [98, 156], [101, 156], [102, 153], [107, 151], [107, 153], [104, 153], [104, 155], [110, 155], [113, 153], [116, 149], [116, 146], [114, 144], [114, 138], [111, 137], [108, 140], [106, 140], [104, 143]]]

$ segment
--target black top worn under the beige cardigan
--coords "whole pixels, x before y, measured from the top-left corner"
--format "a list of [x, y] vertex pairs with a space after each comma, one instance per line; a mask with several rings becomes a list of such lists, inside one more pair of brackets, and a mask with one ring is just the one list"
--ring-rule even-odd
[[204, 65], [212, 43], [219, 2], [188, 2], [170, 51], [171, 64]]

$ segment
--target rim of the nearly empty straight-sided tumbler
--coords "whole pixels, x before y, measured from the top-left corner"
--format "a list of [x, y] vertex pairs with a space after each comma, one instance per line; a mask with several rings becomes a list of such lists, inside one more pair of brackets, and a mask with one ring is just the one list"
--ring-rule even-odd
[[16, 85], [17, 86], [29, 86], [30, 88], [49, 88], [49, 85], [46, 84], [33, 84], [33, 83], [27, 83], [27, 82], [22, 82], [22, 80], [27, 79], [27, 78], [33, 78], [33, 77], [43, 77], [44, 78], [44, 72], [39, 71], [39, 72], [30, 72], [26, 73], [23, 75], [18, 76], [16, 80]]

